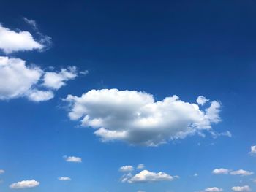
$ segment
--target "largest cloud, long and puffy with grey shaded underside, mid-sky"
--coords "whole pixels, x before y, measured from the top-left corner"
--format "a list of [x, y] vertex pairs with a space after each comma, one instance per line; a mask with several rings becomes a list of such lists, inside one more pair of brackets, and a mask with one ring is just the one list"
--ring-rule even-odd
[[151, 94], [118, 89], [91, 90], [67, 96], [71, 120], [96, 128], [103, 142], [121, 140], [132, 145], [157, 146], [171, 139], [211, 130], [219, 123], [220, 104], [208, 108], [181, 101], [178, 96], [155, 101]]

